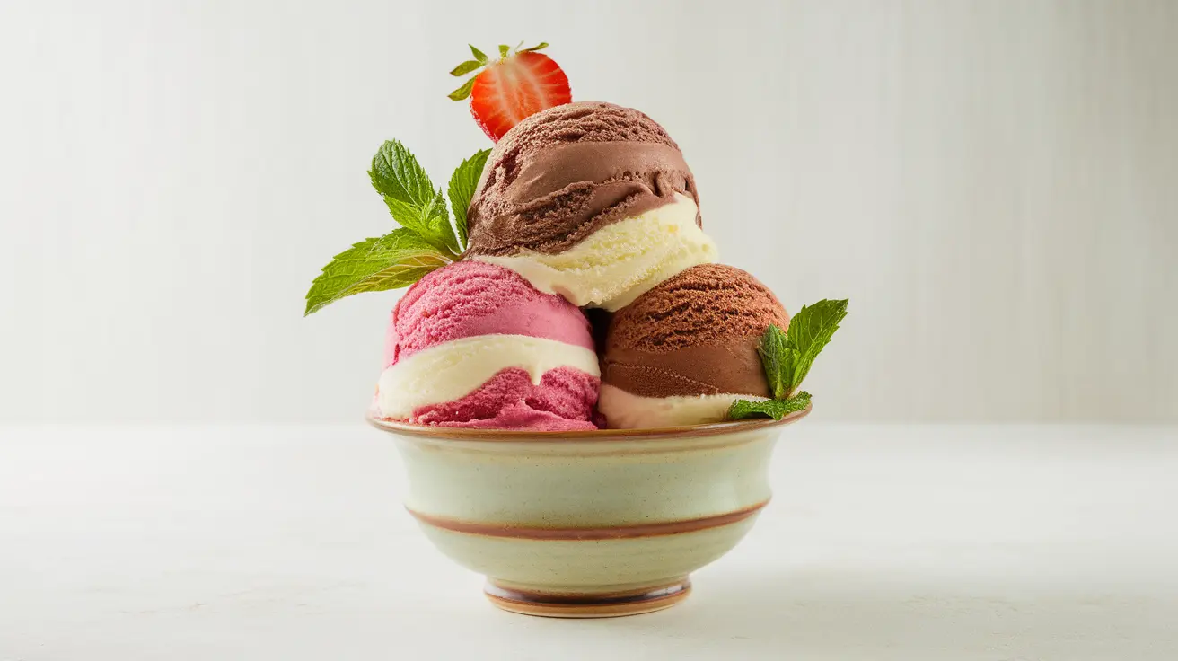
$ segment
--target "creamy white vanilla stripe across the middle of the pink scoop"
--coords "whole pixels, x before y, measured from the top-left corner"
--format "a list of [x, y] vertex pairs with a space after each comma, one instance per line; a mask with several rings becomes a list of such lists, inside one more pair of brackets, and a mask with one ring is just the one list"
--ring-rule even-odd
[[556, 368], [601, 376], [597, 355], [584, 346], [524, 335], [482, 335], [422, 349], [385, 368], [377, 409], [383, 417], [408, 418], [419, 406], [470, 395], [507, 368], [527, 370], [537, 385], [544, 372]]

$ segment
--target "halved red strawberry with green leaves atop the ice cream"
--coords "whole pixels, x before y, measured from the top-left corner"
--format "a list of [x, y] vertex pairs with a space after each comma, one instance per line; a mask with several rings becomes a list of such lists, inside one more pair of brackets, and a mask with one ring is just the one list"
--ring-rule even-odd
[[499, 59], [496, 61], [489, 61], [471, 46], [476, 59], [450, 72], [462, 75], [476, 68], [483, 70], [455, 90], [450, 98], [458, 101], [470, 97], [470, 114], [491, 140], [498, 141], [528, 115], [573, 100], [569, 79], [560, 65], [536, 52], [544, 46], [548, 45], [523, 51], [499, 46]]

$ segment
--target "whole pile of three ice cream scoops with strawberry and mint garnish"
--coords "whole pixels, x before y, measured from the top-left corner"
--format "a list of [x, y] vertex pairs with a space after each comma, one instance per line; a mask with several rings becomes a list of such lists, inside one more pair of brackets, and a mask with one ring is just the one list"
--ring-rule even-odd
[[471, 47], [451, 74], [474, 75], [450, 98], [470, 99], [494, 148], [443, 192], [386, 141], [369, 176], [401, 227], [337, 255], [307, 292], [310, 315], [409, 287], [371, 415], [568, 432], [808, 408], [799, 386], [847, 302], [790, 319], [766, 285], [717, 264], [679, 145], [637, 110], [574, 103], [544, 47]]

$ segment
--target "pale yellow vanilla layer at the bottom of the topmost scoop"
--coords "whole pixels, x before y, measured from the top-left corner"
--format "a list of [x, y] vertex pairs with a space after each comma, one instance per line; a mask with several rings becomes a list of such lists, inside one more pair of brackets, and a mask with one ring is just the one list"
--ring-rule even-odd
[[716, 244], [695, 224], [696, 212], [691, 198], [675, 193], [675, 201], [605, 225], [564, 252], [475, 259], [507, 266], [575, 305], [613, 312], [683, 269], [716, 260]]

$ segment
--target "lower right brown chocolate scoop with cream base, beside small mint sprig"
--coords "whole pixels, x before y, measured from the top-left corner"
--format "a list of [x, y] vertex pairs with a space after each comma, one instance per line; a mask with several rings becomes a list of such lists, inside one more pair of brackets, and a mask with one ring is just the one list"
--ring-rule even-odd
[[618, 310], [605, 332], [598, 408], [616, 429], [724, 419], [734, 399], [772, 396], [761, 335], [789, 316], [749, 273], [701, 264]]

